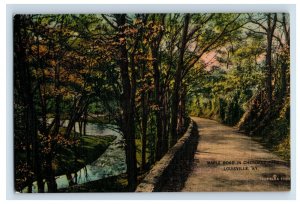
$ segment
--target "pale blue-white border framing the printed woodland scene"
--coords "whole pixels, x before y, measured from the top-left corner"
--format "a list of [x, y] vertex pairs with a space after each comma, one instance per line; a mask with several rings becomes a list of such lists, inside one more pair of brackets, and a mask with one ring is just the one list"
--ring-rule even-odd
[[[291, 139], [296, 141], [296, 5], [292, 4], [211, 4], [211, 5], [69, 5], [10, 4], [6, 5], [6, 199], [10, 200], [289, 200], [296, 198], [296, 144], [291, 143], [291, 191], [247, 193], [61, 193], [16, 194], [13, 189], [13, 60], [12, 16], [26, 13], [162, 13], [162, 12], [289, 12], [291, 19]], [[99, 201], [101, 202], [101, 201]]]

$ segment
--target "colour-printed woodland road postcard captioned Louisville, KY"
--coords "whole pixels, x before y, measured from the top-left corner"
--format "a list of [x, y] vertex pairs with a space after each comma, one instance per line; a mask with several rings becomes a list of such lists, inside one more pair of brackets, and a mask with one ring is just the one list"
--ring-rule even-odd
[[16, 14], [14, 187], [290, 191], [288, 13]]

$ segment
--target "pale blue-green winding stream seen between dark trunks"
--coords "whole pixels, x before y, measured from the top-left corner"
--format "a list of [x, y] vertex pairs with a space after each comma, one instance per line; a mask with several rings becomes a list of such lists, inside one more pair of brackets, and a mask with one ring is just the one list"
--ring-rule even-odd
[[[64, 122], [64, 126], [68, 121]], [[76, 124], [76, 131], [79, 132], [79, 125]], [[94, 123], [87, 123], [86, 134], [101, 137], [105, 135], [114, 135], [116, 139], [106, 149], [106, 151], [93, 163], [86, 165], [77, 172], [77, 183], [83, 184], [89, 181], [95, 181], [102, 178], [117, 176], [126, 172], [124, 140], [120, 133], [105, 128]], [[75, 181], [75, 174], [72, 174], [73, 181]], [[67, 188], [69, 182], [66, 175], [61, 175], [56, 178], [57, 188]], [[25, 188], [23, 192], [26, 192]], [[33, 183], [32, 192], [37, 192], [37, 182]], [[45, 184], [45, 192], [47, 192], [47, 185]]]

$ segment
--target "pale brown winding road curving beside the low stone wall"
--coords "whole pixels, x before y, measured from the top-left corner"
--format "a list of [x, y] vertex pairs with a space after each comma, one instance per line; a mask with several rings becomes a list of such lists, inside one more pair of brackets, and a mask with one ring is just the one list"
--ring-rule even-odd
[[199, 143], [182, 191], [289, 191], [290, 168], [251, 137], [194, 117]]

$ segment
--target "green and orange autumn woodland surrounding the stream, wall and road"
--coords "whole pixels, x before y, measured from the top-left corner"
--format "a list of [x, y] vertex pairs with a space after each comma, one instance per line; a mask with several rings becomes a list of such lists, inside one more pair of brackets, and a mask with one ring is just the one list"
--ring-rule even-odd
[[[135, 159], [150, 166], [161, 158], [189, 114], [238, 124], [288, 158], [289, 25], [281, 16], [271, 73], [265, 14], [16, 15], [17, 189], [55, 183], [54, 175], [92, 162], [114, 139], [77, 135], [78, 122], [116, 125], [134, 147], [126, 149], [134, 172]], [[268, 76], [272, 106], [264, 103]], [[123, 191], [131, 181], [121, 177], [91, 185], [111, 181]]]

